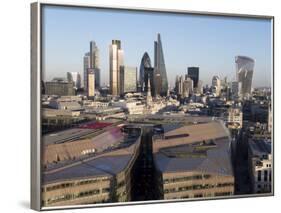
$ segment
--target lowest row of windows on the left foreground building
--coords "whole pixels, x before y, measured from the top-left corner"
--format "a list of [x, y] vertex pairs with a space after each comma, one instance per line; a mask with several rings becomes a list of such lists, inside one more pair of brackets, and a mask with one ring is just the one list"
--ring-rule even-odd
[[108, 193], [108, 192], [110, 192], [110, 189], [104, 188], [102, 190], [100, 190], [100, 189], [88, 190], [88, 191], [80, 192], [79, 194], [59, 195], [59, 196], [56, 196], [56, 197], [49, 198], [47, 200], [47, 203], [52, 204], [52, 203], [57, 203], [57, 202], [61, 202], [61, 201], [73, 200], [73, 199], [76, 199], [76, 198], [89, 197], [89, 196], [97, 195], [97, 194], [100, 194], [100, 193]]

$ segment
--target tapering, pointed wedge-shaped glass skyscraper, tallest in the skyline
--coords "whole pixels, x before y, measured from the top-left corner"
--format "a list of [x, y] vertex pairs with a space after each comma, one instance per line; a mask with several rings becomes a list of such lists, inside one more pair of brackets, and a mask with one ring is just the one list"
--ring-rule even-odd
[[164, 61], [164, 53], [160, 34], [154, 42], [154, 85], [156, 95], [166, 95], [168, 90], [168, 79]]

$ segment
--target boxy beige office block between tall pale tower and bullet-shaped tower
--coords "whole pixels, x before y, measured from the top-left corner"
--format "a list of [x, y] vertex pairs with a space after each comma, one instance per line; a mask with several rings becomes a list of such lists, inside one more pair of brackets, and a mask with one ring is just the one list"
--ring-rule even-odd
[[137, 91], [136, 67], [120, 67], [120, 90], [121, 94]]

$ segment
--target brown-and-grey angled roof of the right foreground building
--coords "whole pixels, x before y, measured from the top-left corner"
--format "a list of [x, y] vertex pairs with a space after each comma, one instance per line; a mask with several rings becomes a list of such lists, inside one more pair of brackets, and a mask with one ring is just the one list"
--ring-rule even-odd
[[219, 121], [182, 126], [154, 140], [154, 162], [162, 173], [233, 176], [230, 143], [229, 132]]

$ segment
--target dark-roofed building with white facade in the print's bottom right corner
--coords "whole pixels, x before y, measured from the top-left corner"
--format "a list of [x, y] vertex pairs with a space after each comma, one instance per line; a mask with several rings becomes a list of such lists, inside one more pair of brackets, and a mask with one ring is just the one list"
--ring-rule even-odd
[[265, 140], [249, 140], [248, 158], [252, 192], [272, 192], [271, 143]]

